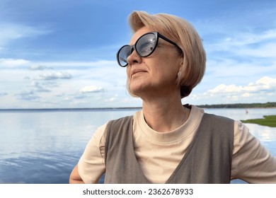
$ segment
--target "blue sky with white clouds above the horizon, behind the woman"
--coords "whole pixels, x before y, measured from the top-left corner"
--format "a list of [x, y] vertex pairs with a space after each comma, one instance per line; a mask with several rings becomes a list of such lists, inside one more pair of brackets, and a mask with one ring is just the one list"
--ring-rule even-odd
[[134, 10], [202, 37], [205, 77], [183, 103], [276, 102], [276, 1], [1, 0], [0, 108], [141, 106], [115, 60]]

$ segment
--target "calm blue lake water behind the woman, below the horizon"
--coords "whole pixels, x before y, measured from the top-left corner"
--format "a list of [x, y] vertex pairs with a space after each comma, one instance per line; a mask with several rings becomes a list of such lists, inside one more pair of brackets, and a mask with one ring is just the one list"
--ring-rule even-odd
[[[68, 183], [93, 132], [136, 110], [0, 111], [0, 183]], [[235, 120], [276, 115], [276, 109], [207, 109]], [[246, 124], [276, 156], [276, 128]], [[233, 183], [242, 183], [239, 180]]]

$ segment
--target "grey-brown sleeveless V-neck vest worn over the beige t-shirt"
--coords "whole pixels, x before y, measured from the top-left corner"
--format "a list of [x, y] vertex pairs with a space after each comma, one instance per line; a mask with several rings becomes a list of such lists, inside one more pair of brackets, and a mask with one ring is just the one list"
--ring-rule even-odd
[[[132, 122], [129, 116], [108, 124], [105, 183], [150, 183], [134, 154]], [[166, 183], [229, 183], [233, 142], [234, 120], [205, 113], [188, 151]]]

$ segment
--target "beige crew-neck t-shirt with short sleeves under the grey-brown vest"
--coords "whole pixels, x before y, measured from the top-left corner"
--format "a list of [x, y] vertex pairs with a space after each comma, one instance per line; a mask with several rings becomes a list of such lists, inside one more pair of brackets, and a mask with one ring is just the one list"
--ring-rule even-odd
[[[202, 120], [204, 110], [192, 106], [190, 117], [178, 129], [156, 132], [146, 124], [142, 110], [134, 114], [134, 152], [140, 168], [152, 183], [165, 183], [180, 163]], [[81, 156], [78, 167], [85, 183], [98, 183], [105, 173], [105, 127], [99, 127]], [[239, 121], [234, 125], [231, 179], [250, 183], [276, 183], [276, 158]]]

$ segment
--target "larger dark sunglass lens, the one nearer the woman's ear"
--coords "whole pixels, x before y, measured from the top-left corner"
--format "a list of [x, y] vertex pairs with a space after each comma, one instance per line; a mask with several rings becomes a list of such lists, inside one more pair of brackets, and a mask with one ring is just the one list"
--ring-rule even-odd
[[151, 54], [156, 45], [156, 36], [153, 33], [146, 34], [137, 40], [135, 45], [137, 53], [141, 57], [146, 57]]

